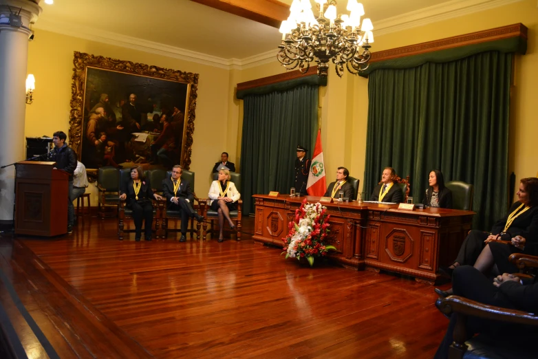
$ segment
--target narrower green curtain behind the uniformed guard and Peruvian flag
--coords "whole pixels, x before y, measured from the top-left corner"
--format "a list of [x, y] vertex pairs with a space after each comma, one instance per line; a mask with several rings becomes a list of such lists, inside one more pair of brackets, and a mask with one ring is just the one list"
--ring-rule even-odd
[[288, 193], [293, 186], [297, 145], [312, 155], [317, 131], [318, 86], [244, 98], [241, 139], [241, 199], [254, 213], [252, 195]]

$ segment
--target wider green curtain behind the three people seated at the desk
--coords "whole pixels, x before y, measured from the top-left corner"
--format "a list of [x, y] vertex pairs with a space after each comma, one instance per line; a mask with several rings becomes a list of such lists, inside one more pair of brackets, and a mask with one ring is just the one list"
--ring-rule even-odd
[[508, 207], [508, 113], [513, 54], [369, 75], [365, 191], [385, 166], [410, 175], [422, 202], [431, 169], [475, 186], [473, 226], [488, 230]]

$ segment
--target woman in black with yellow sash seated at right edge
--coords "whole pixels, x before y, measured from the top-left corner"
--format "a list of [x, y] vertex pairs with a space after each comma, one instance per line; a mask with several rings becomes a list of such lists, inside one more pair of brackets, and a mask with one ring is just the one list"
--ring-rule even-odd
[[[499, 272], [515, 273], [517, 268], [509, 263], [512, 253], [538, 255], [538, 178], [528, 177], [519, 182], [518, 202], [508, 210], [508, 215], [486, 233], [471, 230], [464, 240], [458, 257], [442, 272], [452, 275], [459, 265], [474, 265], [480, 272], [487, 272], [497, 265]], [[510, 243], [499, 242], [499, 240]], [[435, 290], [441, 296], [450, 295], [451, 290]]]

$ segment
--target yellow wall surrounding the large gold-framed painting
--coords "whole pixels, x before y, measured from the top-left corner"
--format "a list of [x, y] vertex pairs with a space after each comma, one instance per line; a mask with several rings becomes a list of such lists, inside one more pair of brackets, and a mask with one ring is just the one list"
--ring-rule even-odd
[[[236, 127], [226, 125], [228, 105], [232, 103], [228, 83], [230, 79], [235, 80], [229, 77], [230, 71], [36, 30], [28, 56], [28, 73], [36, 77], [36, 91], [34, 103], [26, 107], [26, 136], [52, 136], [52, 133], [58, 130], [69, 133], [71, 109], [69, 100], [74, 51], [200, 74], [191, 171], [197, 174], [195, 179], [197, 195], [207, 197], [211, 169], [220, 159], [220, 153], [228, 151], [230, 161], [235, 162], [235, 151], [229, 146], [230, 144], [235, 146], [237, 125]], [[96, 193], [96, 187], [91, 184], [89, 191]], [[92, 195], [92, 204], [96, 206], [97, 203], [96, 195]]]

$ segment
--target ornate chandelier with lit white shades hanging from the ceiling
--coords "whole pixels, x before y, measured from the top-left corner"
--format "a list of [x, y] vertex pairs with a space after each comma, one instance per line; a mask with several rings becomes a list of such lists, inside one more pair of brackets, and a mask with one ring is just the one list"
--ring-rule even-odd
[[374, 26], [365, 14], [362, 3], [348, 0], [348, 14], [336, 15], [336, 0], [314, 0], [319, 17], [314, 17], [310, 0], [293, 0], [290, 17], [282, 21], [279, 32], [282, 42], [277, 58], [286, 69], [299, 66], [305, 74], [310, 63], [318, 64], [318, 76], [326, 77], [329, 61], [335, 64], [340, 77], [347, 71], [356, 75], [368, 68], [369, 48], [374, 42]]

